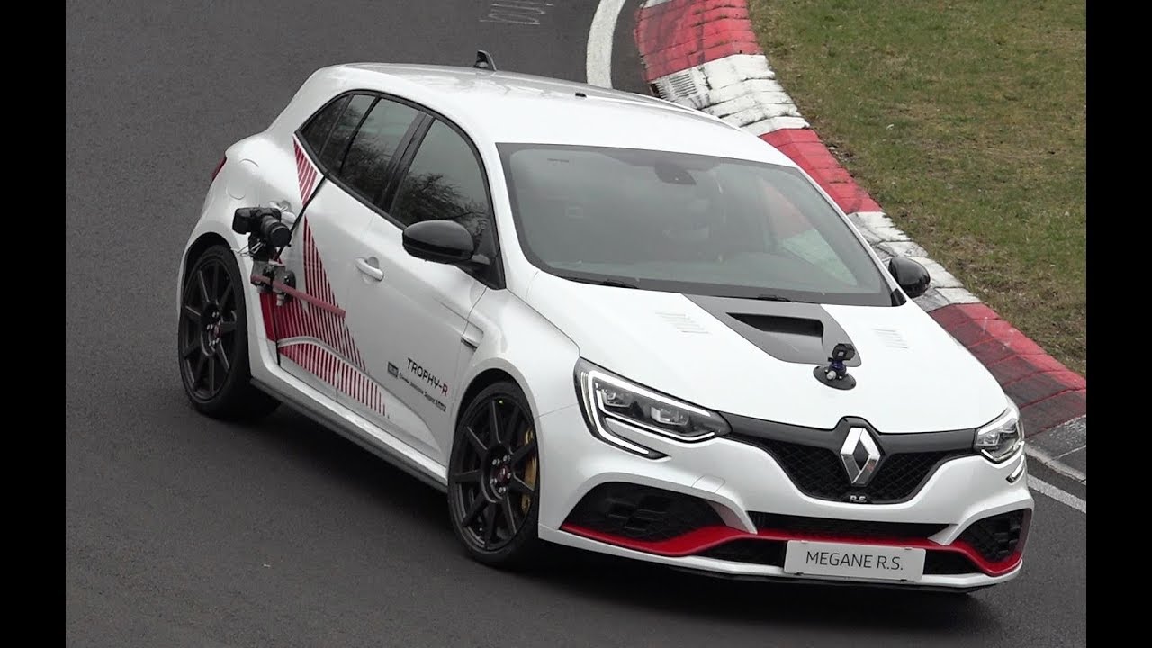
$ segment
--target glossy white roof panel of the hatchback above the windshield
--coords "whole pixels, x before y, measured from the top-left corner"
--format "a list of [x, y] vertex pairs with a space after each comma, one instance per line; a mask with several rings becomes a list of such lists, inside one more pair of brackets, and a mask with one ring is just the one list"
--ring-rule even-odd
[[[795, 166], [759, 138], [705, 113], [631, 92], [475, 68], [349, 63], [346, 88], [406, 96], [491, 143], [582, 144], [696, 152]], [[479, 142], [478, 142], [479, 143]]]

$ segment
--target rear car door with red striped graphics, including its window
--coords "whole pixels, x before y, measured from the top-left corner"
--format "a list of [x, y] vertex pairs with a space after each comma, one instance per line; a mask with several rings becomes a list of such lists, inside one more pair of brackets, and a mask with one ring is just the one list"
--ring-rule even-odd
[[291, 244], [281, 262], [303, 294], [273, 311], [280, 366], [336, 401], [382, 412], [380, 390], [364, 371], [362, 346], [346, 323], [344, 289], [355, 274], [357, 241], [376, 218], [394, 153], [419, 113], [373, 93], [350, 93], [321, 108], [296, 134], [300, 199]]

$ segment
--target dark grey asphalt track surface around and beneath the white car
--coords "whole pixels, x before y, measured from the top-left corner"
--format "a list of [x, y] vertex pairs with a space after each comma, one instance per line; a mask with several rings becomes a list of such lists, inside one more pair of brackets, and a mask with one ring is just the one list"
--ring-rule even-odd
[[[583, 81], [596, 2], [547, 1], [539, 24], [445, 0], [67, 3], [67, 258], [88, 278], [67, 284], [68, 645], [1083, 646], [1085, 515], [1044, 496], [1024, 574], [961, 600], [559, 550], [511, 575], [462, 555], [441, 495], [303, 416], [191, 410], [174, 271], [222, 151], [334, 62], [484, 47]], [[615, 82], [639, 89], [632, 8]]]

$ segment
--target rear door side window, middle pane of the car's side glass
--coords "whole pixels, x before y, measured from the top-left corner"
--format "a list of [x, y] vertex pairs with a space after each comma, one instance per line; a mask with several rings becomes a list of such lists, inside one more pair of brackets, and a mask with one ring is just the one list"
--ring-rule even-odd
[[340, 178], [367, 201], [379, 198], [388, 161], [418, 114], [388, 99], [377, 101], [353, 137]]

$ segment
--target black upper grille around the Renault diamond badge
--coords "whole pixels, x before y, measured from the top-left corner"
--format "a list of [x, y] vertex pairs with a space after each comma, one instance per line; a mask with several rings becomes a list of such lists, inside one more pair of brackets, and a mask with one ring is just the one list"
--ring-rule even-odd
[[862, 495], [871, 504], [903, 502], [916, 495], [938, 466], [969, 454], [942, 450], [888, 454], [880, 459], [867, 485], [854, 487], [840, 454], [827, 447], [736, 434], [729, 438], [766, 450], [804, 495], [835, 502], [847, 500], [849, 495]]

